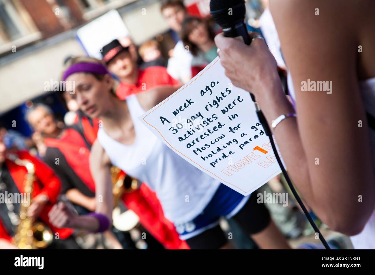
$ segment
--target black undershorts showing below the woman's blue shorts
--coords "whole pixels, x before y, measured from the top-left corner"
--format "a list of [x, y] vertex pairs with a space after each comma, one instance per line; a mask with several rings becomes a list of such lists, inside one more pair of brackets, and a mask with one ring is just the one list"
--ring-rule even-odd
[[[234, 219], [248, 235], [261, 232], [270, 224], [270, 213], [264, 204], [258, 204], [256, 192], [250, 195], [242, 209], [234, 215]], [[191, 249], [219, 249], [228, 242], [219, 225], [205, 230], [192, 238], [186, 239]]]

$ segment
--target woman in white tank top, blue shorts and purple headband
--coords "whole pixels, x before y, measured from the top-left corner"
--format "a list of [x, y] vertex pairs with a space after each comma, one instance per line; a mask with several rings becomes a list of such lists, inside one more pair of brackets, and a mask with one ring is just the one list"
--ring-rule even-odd
[[[132, 62], [130, 55], [126, 58]], [[51, 211], [52, 224], [92, 232], [105, 230], [111, 223], [110, 166], [115, 165], [156, 192], [165, 217], [192, 249], [229, 248], [228, 238], [219, 226], [221, 217], [234, 219], [260, 248], [290, 248], [267, 208], [257, 203], [257, 196], [245, 197], [200, 171], [139, 121], [139, 116], [178, 87], [159, 86], [120, 100], [114, 95], [114, 82], [107, 68], [95, 58], [74, 59], [63, 80], [75, 82], [75, 92], [67, 96], [76, 100], [87, 116], [97, 117], [101, 123], [90, 155], [98, 201], [97, 213], [90, 217], [77, 216], [65, 206], [56, 207]]]

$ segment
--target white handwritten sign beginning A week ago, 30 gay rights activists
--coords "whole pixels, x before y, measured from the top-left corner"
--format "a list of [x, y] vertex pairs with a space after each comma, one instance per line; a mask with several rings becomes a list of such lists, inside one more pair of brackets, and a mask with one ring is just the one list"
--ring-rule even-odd
[[139, 119], [181, 158], [245, 196], [281, 172], [249, 92], [231, 84], [219, 58]]

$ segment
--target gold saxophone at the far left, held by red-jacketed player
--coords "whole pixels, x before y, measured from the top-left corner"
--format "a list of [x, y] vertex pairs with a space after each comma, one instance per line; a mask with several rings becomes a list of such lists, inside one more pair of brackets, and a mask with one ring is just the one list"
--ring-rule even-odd
[[27, 209], [32, 202], [32, 193], [35, 180], [35, 167], [30, 161], [21, 160], [15, 155], [10, 155], [9, 159], [15, 164], [24, 166], [27, 169], [25, 175], [24, 190], [27, 198], [23, 199], [20, 207], [20, 223], [17, 226], [17, 232], [12, 238], [12, 244], [19, 249], [37, 249], [45, 248], [52, 242], [52, 231], [43, 223], [33, 223], [30, 217], [27, 217]]

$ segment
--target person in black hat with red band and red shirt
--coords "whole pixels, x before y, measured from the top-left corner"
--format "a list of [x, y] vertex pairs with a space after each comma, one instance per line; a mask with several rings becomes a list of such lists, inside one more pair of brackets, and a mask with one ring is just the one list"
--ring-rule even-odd
[[165, 67], [139, 69], [129, 48], [123, 48], [118, 40], [105, 45], [102, 55], [108, 70], [120, 80], [116, 89], [116, 94], [120, 99], [162, 85], [179, 85], [179, 82], [167, 73]]

